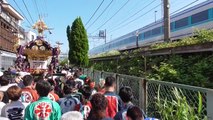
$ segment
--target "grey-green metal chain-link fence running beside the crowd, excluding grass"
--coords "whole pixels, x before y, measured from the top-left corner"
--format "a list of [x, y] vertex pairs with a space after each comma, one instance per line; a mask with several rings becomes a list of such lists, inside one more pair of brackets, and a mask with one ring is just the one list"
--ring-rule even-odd
[[[158, 116], [156, 109], [157, 96], [159, 94], [160, 99], [174, 99], [172, 91], [174, 88], [182, 91], [187, 99], [189, 105], [194, 108], [198, 108], [199, 98], [198, 92], [202, 96], [202, 116], [207, 116], [208, 120], [213, 120], [213, 90], [201, 87], [182, 85], [177, 83], [146, 80], [141, 77], [116, 74], [110, 72], [96, 71], [92, 69], [84, 69], [84, 74], [90, 76], [96, 83], [100, 78], [106, 78], [107, 76], [114, 76], [116, 78], [117, 89], [116, 92], [122, 86], [130, 86], [133, 90], [134, 99], [133, 103], [141, 107], [148, 116]], [[159, 93], [158, 93], [159, 92]]]

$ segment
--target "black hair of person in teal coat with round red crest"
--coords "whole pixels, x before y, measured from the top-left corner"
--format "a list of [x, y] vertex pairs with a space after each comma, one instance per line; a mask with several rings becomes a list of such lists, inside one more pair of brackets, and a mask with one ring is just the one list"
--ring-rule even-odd
[[51, 85], [47, 81], [40, 80], [39, 82], [37, 82], [35, 89], [40, 97], [46, 97], [51, 91]]

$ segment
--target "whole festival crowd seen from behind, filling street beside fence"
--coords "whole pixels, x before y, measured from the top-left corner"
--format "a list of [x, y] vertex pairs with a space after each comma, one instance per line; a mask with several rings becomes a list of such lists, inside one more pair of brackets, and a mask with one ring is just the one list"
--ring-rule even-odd
[[82, 70], [60, 71], [64, 76], [0, 73], [1, 120], [144, 120], [128, 86], [115, 93], [116, 79], [95, 83]]

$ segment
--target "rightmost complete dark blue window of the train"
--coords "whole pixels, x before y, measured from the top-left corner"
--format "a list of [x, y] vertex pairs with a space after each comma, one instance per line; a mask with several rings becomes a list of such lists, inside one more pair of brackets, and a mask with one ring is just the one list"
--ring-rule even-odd
[[192, 15], [192, 24], [208, 20], [208, 10]]

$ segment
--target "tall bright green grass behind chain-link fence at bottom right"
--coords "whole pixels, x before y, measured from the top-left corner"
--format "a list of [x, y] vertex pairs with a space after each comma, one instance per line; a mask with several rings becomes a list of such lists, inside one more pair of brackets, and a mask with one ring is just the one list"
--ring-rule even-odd
[[202, 96], [198, 92], [198, 105], [190, 105], [185, 95], [180, 89], [174, 88], [172, 91], [173, 99], [160, 98], [160, 87], [157, 96], [157, 109], [162, 120], [207, 120], [202, 115]]

